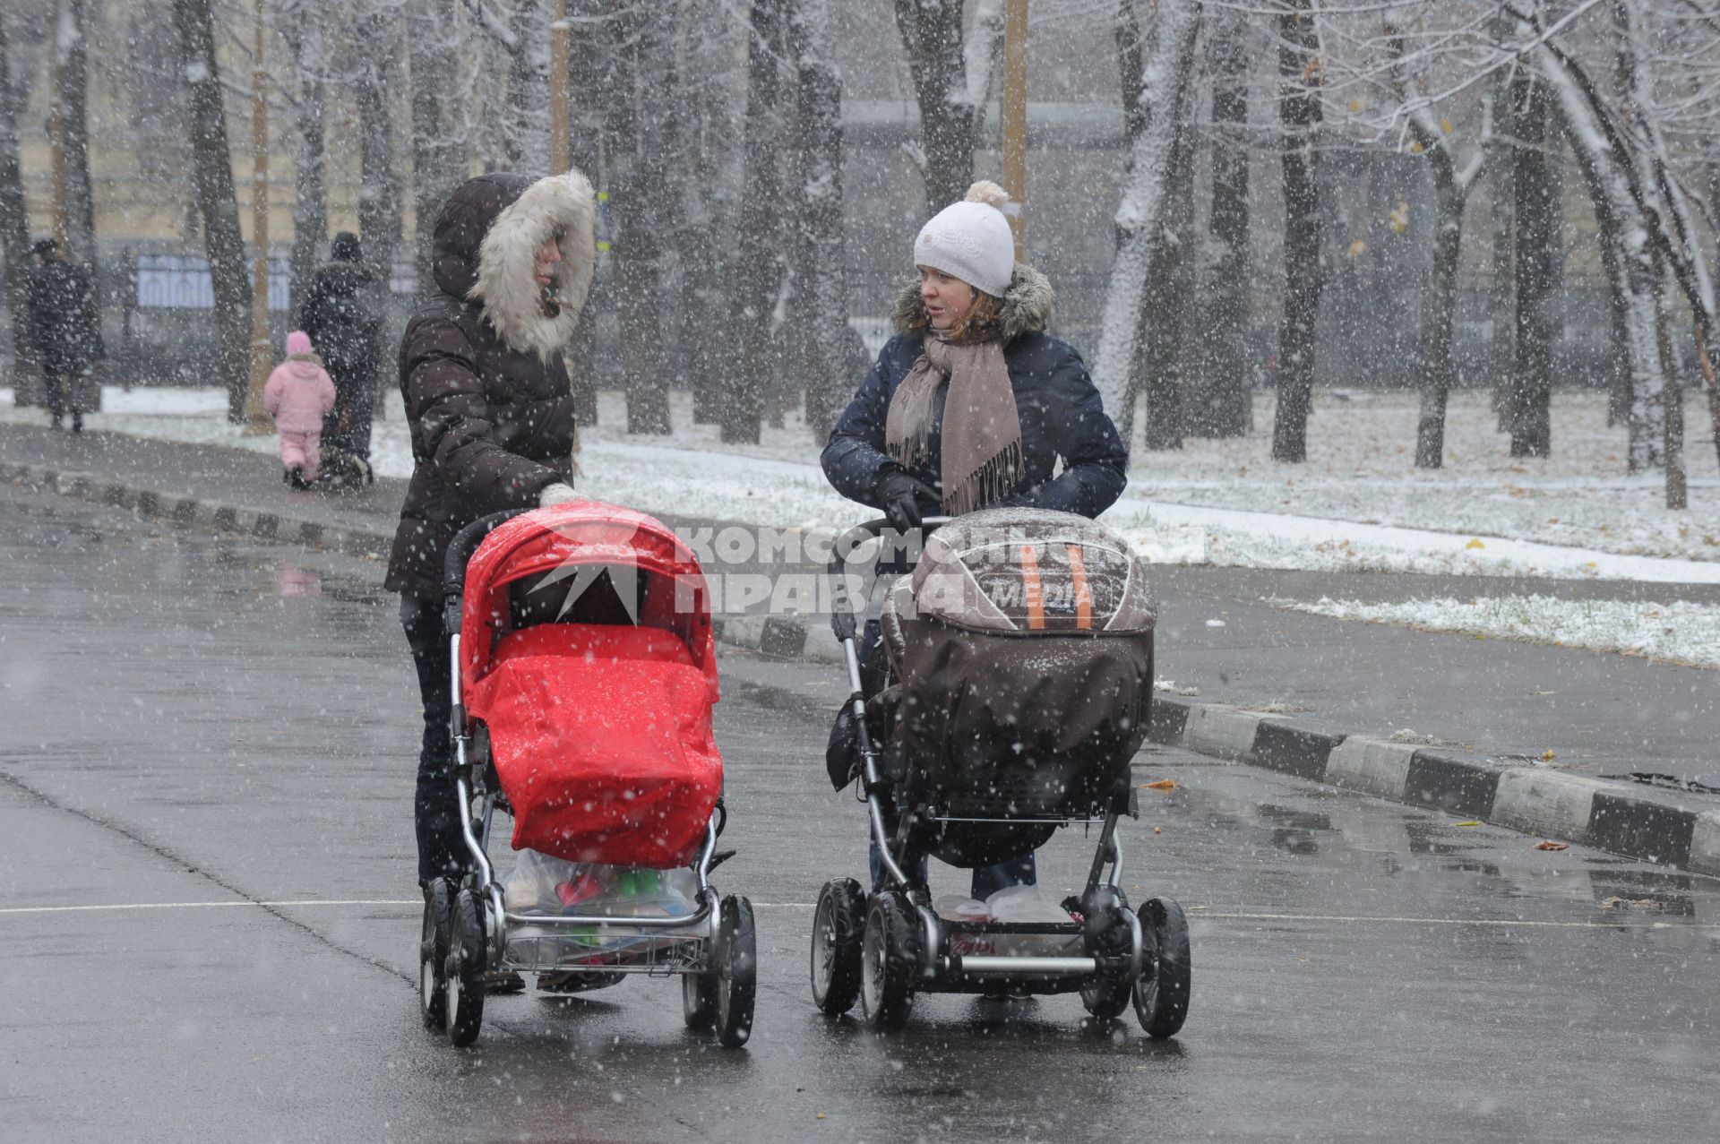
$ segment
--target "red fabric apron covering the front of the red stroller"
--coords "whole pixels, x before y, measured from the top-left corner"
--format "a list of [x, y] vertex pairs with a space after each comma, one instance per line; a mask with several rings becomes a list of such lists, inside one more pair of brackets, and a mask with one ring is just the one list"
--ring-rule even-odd
[[542, 624], [495, 649], [471, 688], [516, 850], [671, 869], [705, 838], [722, 790], [710, 692], [685, 645], [652, 628]]

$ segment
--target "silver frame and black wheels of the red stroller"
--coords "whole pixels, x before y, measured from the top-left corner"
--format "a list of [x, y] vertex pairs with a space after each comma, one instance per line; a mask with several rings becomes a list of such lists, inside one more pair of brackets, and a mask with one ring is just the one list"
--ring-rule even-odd
[[[445, 1029], [454, 1044], [471, 1044], [483, 1018], [483, 996], [511, 974], [583, 974], [571, 989], [614, 984], [623, 975], [681, 977], [683, 1015], [690, 1029], [716, 1032], [726, 1048], [752, 1034], [757, 953], [752, 905], [719, 898], [710, 870], [733, 857], [719, 853], [717, 838], [728, 810], [717, 800], [705, 840], [691, 862], [697, 908], [686, 917], [626, 917], [612, 913], [538, 915], [507, 910], [502, 884], [488, 857], [495, 812], [513, 814], [495, 762], [473, 735], [461, 700], [461, 616], [466, 564], [499, 525], [528, 509], [485, 516], [449, 545], [444, 580], [444, 631], [449, 638], [449, 736], [461, 838], [470, 858], [458, 881], [435, 879], [425, 891], [420, 950], [420, 998], [425, 1025]], [[487, 736], [485, 736], [487, 738]], [[526, 931], [526, 932], [521, 932]], [[593, 931], [604, 938], [645, 939], [643, 950], [593, 951]]]

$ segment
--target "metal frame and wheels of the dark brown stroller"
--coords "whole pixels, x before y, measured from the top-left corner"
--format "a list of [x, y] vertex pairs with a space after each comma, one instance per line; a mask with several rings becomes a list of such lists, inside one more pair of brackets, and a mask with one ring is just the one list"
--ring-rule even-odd
[[[948, 516], [924, 521], [924, 533], [949, 523]], [[874, 520], [843, 533], [834, 545], [831, 580], [831, 628], [843, 647], [850, 695], [845, 700], [857, 729], [860, 752], [860, 795], [867, 803], [872, 841], [882, 865], [882, 886], [865, 895], [853, 879], [826, 883], [819, 895], [812, 936], [814, 1001], [827, 1015], [848, 1012], [857, 996], [867, 1024], [877, 1030], [898, 1029], [908, 1017], [915, 993], [1051, 994], [1080, 993], [1099, 1020], [1111, 1020], [1135, 1001], [1137, 1015], [1154, 1037], [1173, 1036], [1189, 1005], [1189, 936], [1182, 908], [1170, 898], [1152, 898], [1137, 912], [1128, 908], [1120, 888], [1123, 846], [1118, 819], [1139, 817], [1128, 771], [1109, 796], [1103, 817], [941, 817], [929, 822], [1041, 822], [1056, 826], [1099, 824], [1099, 840], [1087, 883], [1078, 898], [1065, 901], [1077, 917], [1068, 922], [961, 922], [932, 908], [929, 881], [913, 877], [917, 867], [912, 824], [918, 807], [896, 809], [889, 827], [896, 783], [882, 767], [882, 752], [867, 728], [867, 693], [860, 664], [857, 607], [843, 575], [848, 554], [889, 530]], [[900, 535], [900, 533], [898, 533]], [[912, 566], [908, 568], [912, 571]], [[956, 936], [1041, 934], [1080, 939], [1085, 953], [1056, 956], [965, 955], [955, 951]]]

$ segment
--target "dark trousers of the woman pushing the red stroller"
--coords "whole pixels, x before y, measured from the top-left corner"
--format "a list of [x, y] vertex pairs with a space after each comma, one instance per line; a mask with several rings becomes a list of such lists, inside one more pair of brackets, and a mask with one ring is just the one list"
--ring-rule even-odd
[[442, 609], [435, 604], [402, 595], [401, 626], [406, 628], [406, 645], [413, 649], [418, 695], [425, 707], [413, 821], [418, 831], [418, 884], [428, 886], [437, 876], [459, 877], [470, 860], [459, 829], [454, 745], [447, 729], [452, 704], [449, 649], [442, 631]]

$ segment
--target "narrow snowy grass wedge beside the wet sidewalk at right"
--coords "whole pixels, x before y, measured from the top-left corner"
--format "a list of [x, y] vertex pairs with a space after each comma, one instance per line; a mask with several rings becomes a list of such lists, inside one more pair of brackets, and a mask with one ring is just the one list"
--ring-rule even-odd
[[1431, 599], [1397, 604], [1321, 599], [1271, 600], [1278, 607], [1338, 619], [1404, 624], [1422, 631], [1557, 643], [1600, 652], [1720, 667], [1720, 607], [1631, 600], [1558, 600], [1546, 595]]

